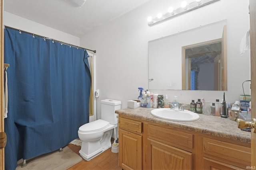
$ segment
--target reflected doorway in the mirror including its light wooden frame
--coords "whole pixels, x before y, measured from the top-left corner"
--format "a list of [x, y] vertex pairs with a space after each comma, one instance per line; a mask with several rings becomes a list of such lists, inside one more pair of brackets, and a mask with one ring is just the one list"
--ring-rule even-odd
[[226, 25], [222, 38], [182, 47], [182, 90], [227, 90]]

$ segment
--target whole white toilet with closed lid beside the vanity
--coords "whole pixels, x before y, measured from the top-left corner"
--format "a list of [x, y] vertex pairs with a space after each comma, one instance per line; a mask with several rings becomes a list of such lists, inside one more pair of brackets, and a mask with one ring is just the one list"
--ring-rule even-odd
[[91, 160], [112, 147], [112, 132], [118, 124], [115, 111], [118, 109], [121, 109], [120, 101], [101, 100], [101, 119], [79, 127], [78, 137], [82, 141], [79, 153], [82, 158]]

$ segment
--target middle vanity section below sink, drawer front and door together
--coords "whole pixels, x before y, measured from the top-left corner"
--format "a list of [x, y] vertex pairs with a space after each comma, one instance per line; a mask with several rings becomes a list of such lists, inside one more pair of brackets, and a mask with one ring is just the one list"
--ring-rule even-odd
[[144, 169], [192, 170], [192, 140], [192, 134], [147, 125], [147, 164]]

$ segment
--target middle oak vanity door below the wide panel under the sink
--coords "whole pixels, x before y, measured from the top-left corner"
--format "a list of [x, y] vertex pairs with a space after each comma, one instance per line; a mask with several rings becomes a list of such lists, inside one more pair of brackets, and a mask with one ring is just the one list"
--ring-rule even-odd
[[192, 170], [192, 153], [148, 139], [148, 169]]

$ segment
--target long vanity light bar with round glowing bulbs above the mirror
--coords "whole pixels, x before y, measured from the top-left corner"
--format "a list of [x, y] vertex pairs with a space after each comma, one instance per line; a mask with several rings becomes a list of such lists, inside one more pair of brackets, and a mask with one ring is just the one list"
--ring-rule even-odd
[[166, 14], [158, 13], [157, 17], [155, 17], [155, 18], [148, 17], [148, 26], [150, 26], [150, 27], [154, 26], [158, 23], [162, 23], [164, 21], [181, 16], [183, 14], [186, 14], [188, 12], [202, 8], [204, 6], [210, 5], [210, 4], [212, 4], [214, 2], [218, 2], [218, 1], [220, 1], [220, 0], [196, 0], [194, 2], [191, 2], [190, 4], [187, 4], [186, 1], [183, 1], [181, 3], [180, 8], [174, 9], [173, 7], [170, 7], [170, 8], [168, 8], [168, 12]]

